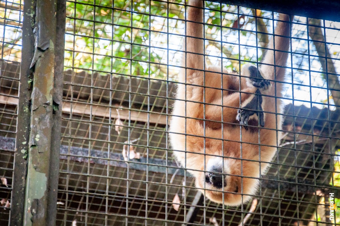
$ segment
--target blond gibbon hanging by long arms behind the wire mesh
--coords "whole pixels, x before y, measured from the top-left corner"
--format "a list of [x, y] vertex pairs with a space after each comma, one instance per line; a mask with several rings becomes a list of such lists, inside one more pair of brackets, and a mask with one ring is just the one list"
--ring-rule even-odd
[[266, 173], [280, 142], [280, 81], [285, 80], [293, 17], [279, 15], [263, 61], [245, 64], [238, 75], [204, 64], [203, 1], [189, 0], [187, 11], [171, 146], [207, 198], [237, 206], [257, 191], [257, 178]]

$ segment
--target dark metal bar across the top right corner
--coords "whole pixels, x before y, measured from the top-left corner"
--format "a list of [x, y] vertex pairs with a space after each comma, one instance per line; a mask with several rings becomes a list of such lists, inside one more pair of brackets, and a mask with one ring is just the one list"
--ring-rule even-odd
[[340, 22], [340, 1], [327, 0], [212, 0], [231, 5], [239, 5], [253, 9], [274, 11], [296, 16], [304, 16], [316, 19], [332, 20]]

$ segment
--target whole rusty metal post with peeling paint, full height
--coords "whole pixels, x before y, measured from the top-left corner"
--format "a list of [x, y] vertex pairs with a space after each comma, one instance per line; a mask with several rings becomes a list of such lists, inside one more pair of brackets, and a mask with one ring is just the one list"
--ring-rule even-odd
[[25, 1], [22, 36], [10, 225], [55, 225], [65, 1]]

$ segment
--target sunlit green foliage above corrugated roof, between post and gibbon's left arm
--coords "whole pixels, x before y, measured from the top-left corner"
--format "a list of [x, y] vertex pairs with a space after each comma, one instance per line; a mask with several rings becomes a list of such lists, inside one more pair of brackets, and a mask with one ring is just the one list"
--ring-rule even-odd
[[164, 32], [164, 28], [157, 30], [153, 25], [168, 13], [174, 17], [182, 13], [182, 6], [171, 4], [168, 12], [164, 2], [104, 0], [96, 4], [67, 3], [66, 49], [70, 51], [66, 51], [65, 66], [164, 78], [159, 66], [149, 63], [162, 60], [149, 46], [157, 35], [154, 31]]

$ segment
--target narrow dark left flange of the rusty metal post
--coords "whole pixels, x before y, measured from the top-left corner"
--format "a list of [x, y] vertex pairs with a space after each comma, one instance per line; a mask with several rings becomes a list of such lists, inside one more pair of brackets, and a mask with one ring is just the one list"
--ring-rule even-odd
[[33, 1], [23, 6], [22, 49], [18, 101], [17, 131], [15, 139], [14, 171], [11, 195], [10, 226], [23, 225], [27, 153], [31, 118], [31, 83], [33, 70], [30, 68], [34, 54], [34, 11]]

